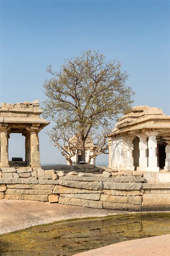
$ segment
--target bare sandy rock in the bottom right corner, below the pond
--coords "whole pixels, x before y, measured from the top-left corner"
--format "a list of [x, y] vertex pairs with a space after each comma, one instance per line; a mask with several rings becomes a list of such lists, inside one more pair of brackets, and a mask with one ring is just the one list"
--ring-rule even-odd
[[[110, 244], [76, 256], [169, 256], [170, 234]], [[74, 256], [74, 255], [73, 255]]]

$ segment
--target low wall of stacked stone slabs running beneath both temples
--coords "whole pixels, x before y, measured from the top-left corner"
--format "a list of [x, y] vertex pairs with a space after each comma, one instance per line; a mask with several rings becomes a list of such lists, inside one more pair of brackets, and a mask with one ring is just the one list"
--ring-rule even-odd
[[1, 168], [0, 199], [36, 200], [125, 211], [169, 210], [170, 185], [144, 183], [141, 172], [108, 172], [93, 165], [62, 170]]

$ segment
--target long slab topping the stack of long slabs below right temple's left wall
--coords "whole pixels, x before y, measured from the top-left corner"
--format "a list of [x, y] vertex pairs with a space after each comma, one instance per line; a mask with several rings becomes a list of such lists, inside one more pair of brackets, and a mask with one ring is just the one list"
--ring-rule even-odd
[[103, 182], [104, 189], [140, 190], [142, 183]]

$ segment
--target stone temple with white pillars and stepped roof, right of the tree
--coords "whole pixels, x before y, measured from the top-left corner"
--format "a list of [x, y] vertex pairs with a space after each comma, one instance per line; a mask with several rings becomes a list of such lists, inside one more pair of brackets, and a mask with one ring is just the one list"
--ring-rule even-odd
[[137, 106], [122, 116], [109, 136], [109, 168], [170, 171], [170, 116]]

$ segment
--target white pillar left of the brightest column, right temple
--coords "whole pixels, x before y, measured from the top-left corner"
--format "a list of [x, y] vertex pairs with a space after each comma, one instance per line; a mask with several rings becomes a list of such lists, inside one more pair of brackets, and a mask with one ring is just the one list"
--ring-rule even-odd
[[148, 159], [147, 159], [147, 135], [137, 135], [140, 139], [139, 142], [139, 150], [140, 150], [140, 157], [139, 157], [139, 167], [137, 170], [139, 171], [147, 171], [148, 166]]

